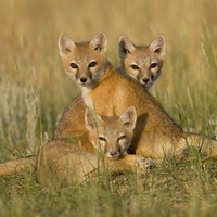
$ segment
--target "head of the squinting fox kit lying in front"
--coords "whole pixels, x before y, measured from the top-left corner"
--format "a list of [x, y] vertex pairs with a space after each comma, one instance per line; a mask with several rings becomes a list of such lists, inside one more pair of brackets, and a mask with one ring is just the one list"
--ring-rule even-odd
[[118, 116], [99, 116], [86, 110], [85, 122], [89, 139], [108, 158], [118, 158], [130, 146], [137, 113], [133, 106]]

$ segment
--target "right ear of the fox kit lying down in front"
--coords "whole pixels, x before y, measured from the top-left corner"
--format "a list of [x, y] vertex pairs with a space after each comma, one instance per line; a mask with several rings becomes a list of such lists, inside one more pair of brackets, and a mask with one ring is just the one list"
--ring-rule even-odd
[[119, 119], [123, 122], [124, 126], [135, 128], [136, 122], [137, 122], [137, 112], [135, 110], [135, 106], [130, 106], [127, 108], [119, 117]]

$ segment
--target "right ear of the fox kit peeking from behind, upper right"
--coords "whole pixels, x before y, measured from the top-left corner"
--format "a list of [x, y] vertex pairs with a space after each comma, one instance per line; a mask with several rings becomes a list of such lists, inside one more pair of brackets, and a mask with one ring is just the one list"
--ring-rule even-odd
[[163, 59], [166, 55], [166, 40], [163, 34], [159, 34], [149, 47], [152, 52], [158, 53]]

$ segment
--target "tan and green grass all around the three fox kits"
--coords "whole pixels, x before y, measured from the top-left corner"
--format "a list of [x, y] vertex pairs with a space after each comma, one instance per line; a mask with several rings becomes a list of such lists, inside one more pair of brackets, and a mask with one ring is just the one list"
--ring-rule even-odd
[[[151, 92], [184, 130], [216, 136], [216, 10], [215, 0], [1, 0], [0, 162], [37, 152], [79, 92], [60, 62], [60, 33], [86, 40], [104, 30], [115, 66], [120, 35], [139, 44], [163, 33], [167, 56]], [[196, 153], [55, 191], [29, 170], [0, 178], [0, 216], [216, 216], [216, 174]]]

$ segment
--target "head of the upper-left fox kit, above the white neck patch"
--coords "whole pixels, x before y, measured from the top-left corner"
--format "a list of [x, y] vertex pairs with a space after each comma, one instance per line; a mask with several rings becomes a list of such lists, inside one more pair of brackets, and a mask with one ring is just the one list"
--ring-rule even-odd
[[59, 51], [65, 72], [78, 86], [93, 88], [102, 76], [106, 60], [107, 39], [100, 31], [89, 42], [74, 42], [68, 36], [61, 34]]

